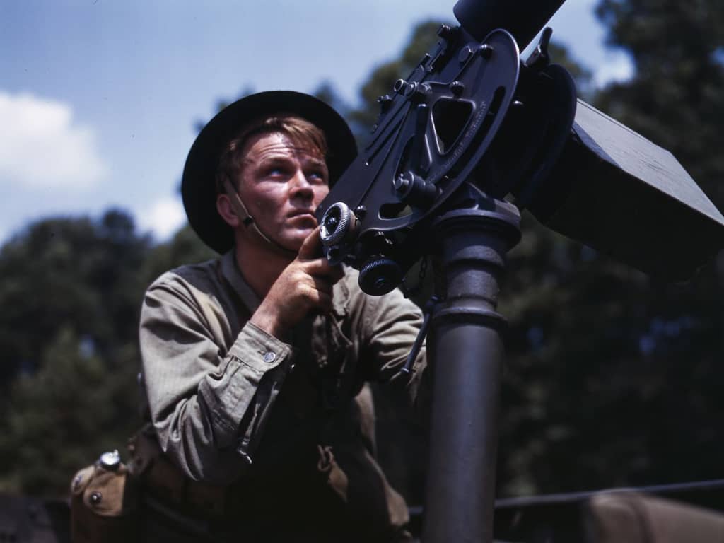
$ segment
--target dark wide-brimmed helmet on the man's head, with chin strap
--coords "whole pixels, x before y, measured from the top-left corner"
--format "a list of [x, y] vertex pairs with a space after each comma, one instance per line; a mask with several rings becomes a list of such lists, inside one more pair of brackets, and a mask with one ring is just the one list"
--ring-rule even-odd
[[218, 253], [234, 245], [231, 227], [216, 211], [216, 168], [224, 147], [248, 122], [275, 113], [307, 119], [327, 138], [327, 167], [332, 185], [357, 156], [350, 127], [323, 101], [293, 90], [252, 94], [225, 107], [199, 132], [186, 158], [181, 194], [186, 216], [203, 243]]

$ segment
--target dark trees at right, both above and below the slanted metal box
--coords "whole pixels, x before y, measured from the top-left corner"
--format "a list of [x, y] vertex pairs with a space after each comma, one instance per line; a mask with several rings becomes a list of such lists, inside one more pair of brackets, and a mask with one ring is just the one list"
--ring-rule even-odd
[[[603, 0], [598, 13], [636, 73], [595, 105], [672, 151], [721, 206], [724, 7]], [[524, 232], [502, 305], [503, 492], [718, 477], [720, 264], [660, 285], [552, 232]]]

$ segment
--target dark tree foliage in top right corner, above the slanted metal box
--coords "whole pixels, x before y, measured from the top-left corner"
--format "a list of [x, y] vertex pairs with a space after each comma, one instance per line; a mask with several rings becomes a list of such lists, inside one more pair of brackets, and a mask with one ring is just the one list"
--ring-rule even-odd
[[602, 0], [607, 41], [630, 54], [636, 75], [610, 85], [599, 104], [674, 153], [724, 204], [724, 5], [717, 0]]

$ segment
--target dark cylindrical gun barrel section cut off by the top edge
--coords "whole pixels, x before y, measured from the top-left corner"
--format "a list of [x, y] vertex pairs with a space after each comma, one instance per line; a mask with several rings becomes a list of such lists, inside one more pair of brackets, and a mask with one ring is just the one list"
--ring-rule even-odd
[[565, 0], [458, 0], [452, 12], [466, 32], [483, 41], [491, 30], [503, 28], [523, 50], [553, 17]]

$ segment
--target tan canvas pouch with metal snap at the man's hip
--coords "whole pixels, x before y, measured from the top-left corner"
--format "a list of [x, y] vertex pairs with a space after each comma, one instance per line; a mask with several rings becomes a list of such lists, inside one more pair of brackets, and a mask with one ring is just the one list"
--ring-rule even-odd
[[138, 540], [138, 481], [127, 466], [100, 461], [78, 471], [70, 486], [73, 543]]

